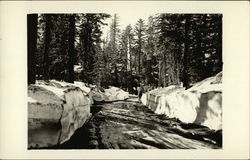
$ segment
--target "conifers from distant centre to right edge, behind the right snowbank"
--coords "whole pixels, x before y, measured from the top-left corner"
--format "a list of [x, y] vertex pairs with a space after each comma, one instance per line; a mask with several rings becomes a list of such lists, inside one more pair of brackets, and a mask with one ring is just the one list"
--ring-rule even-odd
[[[114, 30], [111, 28], [110, 33]], [[157, 14], [150, 16], [147, 24], [139, 19], [134, 27], [128, 25], [120, 40], [114, 41], [112, 35], [109, 43], [113, 45], [106, 45], [104, 52], [119, 59], [108, 62], [114, 66], [111, 73], [122, 77], [110, 77], [119, 87], [132, 89], [140, 82], [189, 87], [222, 70], [219, 14]]]

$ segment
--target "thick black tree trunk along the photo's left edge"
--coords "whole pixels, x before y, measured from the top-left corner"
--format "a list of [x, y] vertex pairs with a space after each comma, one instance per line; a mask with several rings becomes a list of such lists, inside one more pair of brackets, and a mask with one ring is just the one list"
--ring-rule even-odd
[[35, 53], [37, 45], [37, 14], [29, 14], [28, 21], [28, 84], [36, 81]]

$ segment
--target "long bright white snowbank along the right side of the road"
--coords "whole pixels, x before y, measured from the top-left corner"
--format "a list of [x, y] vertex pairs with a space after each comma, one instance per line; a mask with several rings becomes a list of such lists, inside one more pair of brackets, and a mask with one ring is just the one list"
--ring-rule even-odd
[[178, 86], [156, 89], [142, 95], [141, 101], [157, 114], [222, 129], [222, 73], [185, 90]]

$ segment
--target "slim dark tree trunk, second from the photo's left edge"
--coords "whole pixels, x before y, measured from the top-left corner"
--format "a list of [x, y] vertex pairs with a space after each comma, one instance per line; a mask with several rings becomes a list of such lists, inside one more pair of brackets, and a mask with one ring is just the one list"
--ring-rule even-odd
[[45, 49], [43, 57], [43, 79], [49, 79], [49, 46], [51, 41], [51, 15], [47, 14], [45, 25]]

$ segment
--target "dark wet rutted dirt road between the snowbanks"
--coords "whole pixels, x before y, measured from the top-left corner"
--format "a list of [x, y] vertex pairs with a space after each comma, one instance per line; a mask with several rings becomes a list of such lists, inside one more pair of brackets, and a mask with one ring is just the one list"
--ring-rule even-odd
[[95, 104], [93, 116], [71, 139], [53, 149], [221, 148], [221, 131], [156, 115], [130, 98]]

